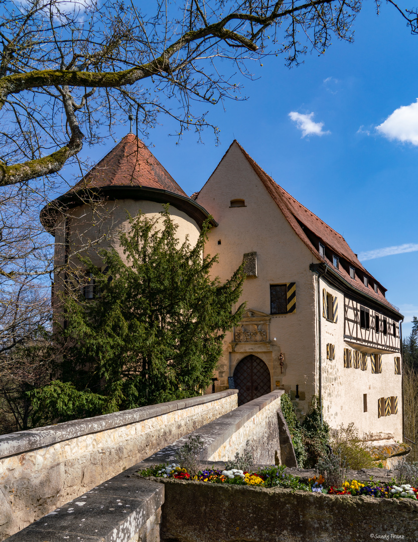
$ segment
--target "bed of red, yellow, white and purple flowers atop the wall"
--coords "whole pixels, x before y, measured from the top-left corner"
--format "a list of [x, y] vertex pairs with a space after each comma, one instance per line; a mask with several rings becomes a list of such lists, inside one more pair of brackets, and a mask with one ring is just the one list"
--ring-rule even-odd
[[410, 484], [398, 486], [394, 481], [391, 483], [370, 482], [362, 483], [357, 480], [345, 481], [342, 487], [327, 487], [322, 476], [308, 479], [308, 482], [301, 481], [298, 476], [286, 474], [284, 466], [271, 466], [260, 468], [257, 472], [248, 472], [241, 469], [200, 470], [197, 474], [191, 475], [179, 464], [160, 464], [149, 467], [140, 472], [142, 476], [156, 476], [156, 478], [175, 478], [179, 480], [197, 480], [206, 483], [223, 483], [233, 485], [247, 485], [258, 487], [282, 487], [300, 489], [313, 493], [325, 493], [329, 495], [363, 495], [382, 499], [417, 499], [418, 488]]

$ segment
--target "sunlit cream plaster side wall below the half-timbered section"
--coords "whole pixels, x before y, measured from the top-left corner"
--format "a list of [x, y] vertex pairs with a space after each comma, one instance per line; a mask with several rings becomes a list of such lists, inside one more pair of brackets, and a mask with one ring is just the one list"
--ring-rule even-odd
[[[332, 428], [341, 424], [345, 427], [354, 422], [359, 433], [389, 433], [393, 440], [402, 442], [402, 376], [395, 375], [394, 357], [400, 353], [382, 354], [382, 373], [371, 372], [370, 348], [358, 346], [357, 350], [368, 352], [368, 368], [344, 367], [344, 348], [353, 349], [353, 345], [344, 340], [344, 294], [329, 286], [324, 279], [320, 282], [320, 326], [322, 359], [322, 395], [324, 420]], [[338, 322], [326, 320], [322, 315], [323, 288], [338, 298]], [[335, 344], [335, 359], [326, 359], [327, 343]], [[368, 411], [363, 411], [363, 394], [367, 394]], [[378, 417], [377, 401], [380, 397], [397, 396], [398, 413]]]

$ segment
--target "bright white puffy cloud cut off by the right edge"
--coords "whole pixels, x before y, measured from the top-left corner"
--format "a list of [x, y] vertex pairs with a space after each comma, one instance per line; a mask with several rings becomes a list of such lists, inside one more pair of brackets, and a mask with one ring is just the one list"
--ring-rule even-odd
[[413, 104], [395, 109], [376, 130], [388, 139], [418, 145], [418, 99]]

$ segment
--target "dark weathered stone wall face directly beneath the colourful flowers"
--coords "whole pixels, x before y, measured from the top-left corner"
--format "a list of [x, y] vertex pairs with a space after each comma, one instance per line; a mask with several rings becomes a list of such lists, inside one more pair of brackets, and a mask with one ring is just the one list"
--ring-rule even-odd
[[161, 542], [418, 540], [418, 503], [411, 499], [171, 479], [163, 483]]

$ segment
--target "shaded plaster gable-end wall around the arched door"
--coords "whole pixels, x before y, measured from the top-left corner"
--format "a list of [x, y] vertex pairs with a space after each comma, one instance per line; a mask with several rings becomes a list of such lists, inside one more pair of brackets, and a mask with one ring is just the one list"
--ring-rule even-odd
[[[231, 199], [245, 199], [246, 207], [230, 208]], [[256, 251], [258, 277], [248, 278], [243, 286], [242, 301], [247, 309], [270, 313], [270, 284], [296, 283], [296, 312], [272, 315], [271, 344], [236, 346], [231, 352], [229, 334], [224, 355], [218, 364], [218, 386], [228, 386], [239, 361], [255, 354], [265, 361], [271, 372], [272, 390], [295, 390], [299, 385], [300, 410], [305, 411], [315, 390], [315, 321], [313, 275], [309, 264], [313, 255], [294, 233], [265, 186], [233, 144], [222, 162], [200, 191], [197, 202], [219, 223], [209, 233], [205, 252], [219, 254], [213, 269], [221, 281], [227, 280], [240, 266], [243, 254]], [[221, 244], [218, 244], [218, 240]], [[276, 338], [276, 341], [273, 339]], [[279, 353], [284, 353], [281, 373]], [[276, 382], [280, 382], [276, 386]]]

